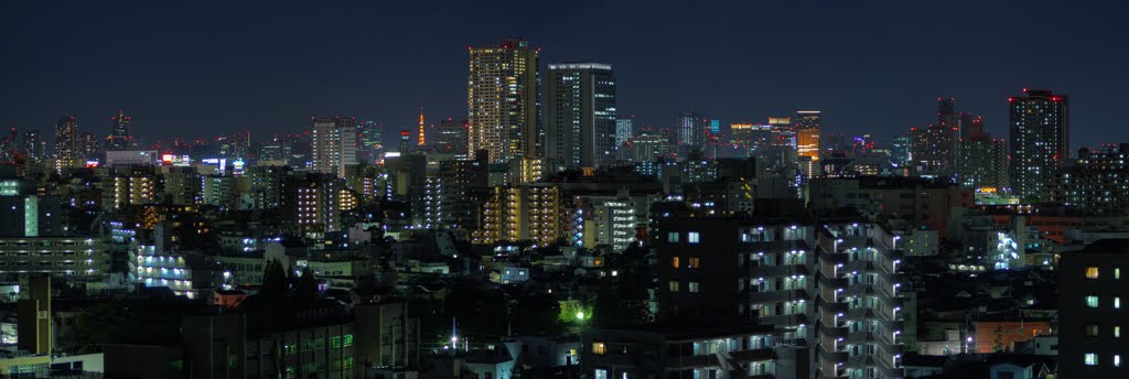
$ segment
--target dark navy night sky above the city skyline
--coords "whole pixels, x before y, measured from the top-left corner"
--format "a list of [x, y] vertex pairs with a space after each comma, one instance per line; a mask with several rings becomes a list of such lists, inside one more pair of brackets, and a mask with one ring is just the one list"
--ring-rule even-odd
[[466, 114], [466, 47], [522, 36], [543, 63], [601, 61], [648, 124], [824, 112], [882, 139], [956, 97], [1006, 136], [1007, 97], [1071, 97], [1074, 144], [1129, 141], [1122, 1], [3, 1], [0, 125], [45, 132], [117, 108], [149, 140], [377, 118], [387, 135]]

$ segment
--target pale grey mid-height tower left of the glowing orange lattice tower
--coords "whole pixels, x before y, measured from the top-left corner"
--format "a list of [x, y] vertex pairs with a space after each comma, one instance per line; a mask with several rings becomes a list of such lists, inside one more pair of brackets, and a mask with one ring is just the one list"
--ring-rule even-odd
[[345, 166], [357, 164], [357, 127], [350, 117], [315, 117], [310, 123], [314, 171], [344, 177]]

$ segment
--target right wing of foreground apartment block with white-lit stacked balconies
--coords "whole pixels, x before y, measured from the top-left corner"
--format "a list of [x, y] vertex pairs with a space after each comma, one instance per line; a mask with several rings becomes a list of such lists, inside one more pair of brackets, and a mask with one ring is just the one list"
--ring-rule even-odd
[[868, 222], [817, 231], [817, 378], [903, 378], [903, 354], [916, 330], [903, 288], [899, 236]]

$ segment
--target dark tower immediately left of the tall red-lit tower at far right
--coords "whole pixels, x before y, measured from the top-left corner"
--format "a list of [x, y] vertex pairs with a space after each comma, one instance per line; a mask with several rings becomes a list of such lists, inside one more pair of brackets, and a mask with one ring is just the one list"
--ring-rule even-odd
[[969, 122], [968, 139], [961, 141], [960, 159], [957, 160], [957, 183], [972, 188], [992, 188], [1003, 191], [1007, 187], [1007, 144], [1001, 139], [994, 139], [983, 131], [983, 118], [975, 117]]

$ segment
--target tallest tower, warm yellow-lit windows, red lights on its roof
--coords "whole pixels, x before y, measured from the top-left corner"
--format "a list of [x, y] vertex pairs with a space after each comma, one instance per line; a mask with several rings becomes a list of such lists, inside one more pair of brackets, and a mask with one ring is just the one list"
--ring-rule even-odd
[[537, 55], [522, 39], [470, 49], [467, 151], [484, 149], [491, 162], [539, 156]]

